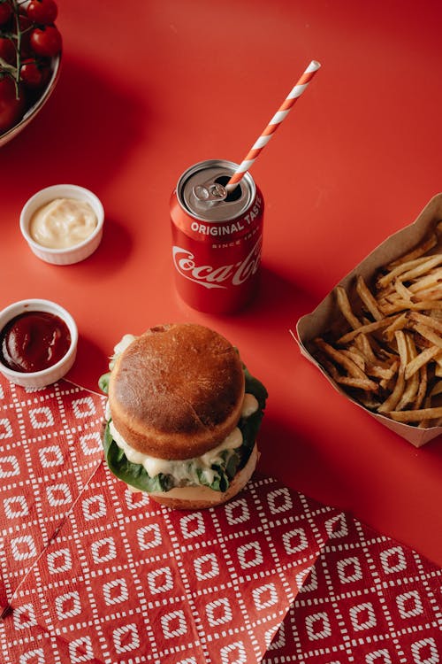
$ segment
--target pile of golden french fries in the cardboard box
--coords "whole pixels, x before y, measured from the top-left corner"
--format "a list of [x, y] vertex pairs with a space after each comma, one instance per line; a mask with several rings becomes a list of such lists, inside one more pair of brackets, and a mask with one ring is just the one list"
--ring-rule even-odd
[[420, 429], [442, 423], [439, 235], [442, 223], [379, 270], [371, 287], [360, 274], [348, 292], [338, 286], [339, 321], [312, 342], [312, 354], [350, 396]]

